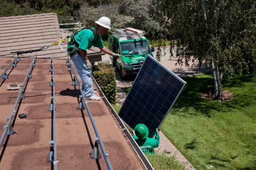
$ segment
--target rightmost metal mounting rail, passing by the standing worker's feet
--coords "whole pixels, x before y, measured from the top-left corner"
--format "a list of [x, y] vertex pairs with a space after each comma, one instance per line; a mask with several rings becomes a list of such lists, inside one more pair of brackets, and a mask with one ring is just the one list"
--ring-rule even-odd
[[90, 112], [90, 109], [89, 109], [89, 106], [88, 106], [88, 104], [87, 104], [87, 101], [86, 101], [86, 99], [85, 99], [85, 97], [84, 97], [84, 95], [83, 95], [83, 91], [82, 91], [82, 89], [81, 89], [81, 86], [80, 86], [80, 84], [79, 84], [78, 77], [77, 77], [77, 75], [76, 75], [76, 71], [75, 71], [75, 69], [74, 69], [74, 67], [73, 67], [73, 64], [72, 64], [71, 61], [70, 61], [70, 56], [67, 55], [67, 59], [68, 59], [70, 65], [71, 65], [71, 67], [72, 67], [72, 70], [73, 70], [73, 72], [74, 72], [74, 74], [75, 74], [75, 78], [76, 78], [77, 85], [79, 86], [79, 90], [80, 90], [81, 96], [82, 96], [82, 98], [83, 98], [84, 105], [85, 105], [85, 108], [86, 108], [87, 113], [88, 113], [88, 115], [89, 115], [91, 124], [93, 125], [93, 130], [94, 130], [94, 132], [95, 132], [95, 134], [96, 134], [96, 137], [99, 139], [99, 146], [101, 147], [102, 154], [103, 154], [103, 157], [104, 157], [105, 162], [106, 162], [106, 164], [107, 164], [108, 170], [113, 170], [113, 168], [112, 168], [112, 166], [111, 166], [111, 163], [110, 163], [110, 160], [109, 160], [109, 158], [108, 158], [108, 153], [107, 153], [106, 150], [105, 150], [105, 147], [104, 147], [103, 142], [102, 142], [102, 140], [101, 140], [101, 138], [100, 138], [100, 136], [99, 136], [99, 132], [98, 132], [98, 130], [97, 130], [97, 127], [96, 127], [96, 125], [95, 125], [95, 122], [94, 122], [94, 120], [93, 120], [93, 116], [92, 116], [92, 114], [91, 114], [91, 112]]

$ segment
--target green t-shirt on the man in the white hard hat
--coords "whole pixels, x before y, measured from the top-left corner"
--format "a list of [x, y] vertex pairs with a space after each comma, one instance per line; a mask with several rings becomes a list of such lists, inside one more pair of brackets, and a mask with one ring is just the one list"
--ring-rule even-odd
[[[93, 29], [95, 30], [95, 28]], [[97, 41], [96, 43], [93, 43], [94, 35], [92, 30], [83, 29], [77, 33], [74, 39], [79, 44], [79, 49], [87, 50], [87, 49], [90, 49], [92, 46], [99, 47], [99, 48], [103, 47], [104, 44], [102, 42], [101, 36], [97, 34], [95, 36]], [[69, 48], [73, 48], [73, 45], [71, 43], [69, 43], [67, 46], [67, 49]]]

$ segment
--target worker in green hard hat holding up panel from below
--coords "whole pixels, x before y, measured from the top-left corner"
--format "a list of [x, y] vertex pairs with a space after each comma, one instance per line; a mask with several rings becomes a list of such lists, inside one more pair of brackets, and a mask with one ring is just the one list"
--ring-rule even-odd
[[145, 124], [137, 124], [134, 128], [134, 140], [145, 154], [154, 154], [154, 148], [159, 146], [159, 131], [154, 138], [148, 138], [148, 127]]

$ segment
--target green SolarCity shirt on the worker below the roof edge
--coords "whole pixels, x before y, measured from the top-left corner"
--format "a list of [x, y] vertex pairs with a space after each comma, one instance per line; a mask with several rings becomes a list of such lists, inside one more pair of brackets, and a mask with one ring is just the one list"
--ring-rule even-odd
[[136, 143], [139, 145], [140, 149], [143, 153], [147, 154], [150, 153], [151, 155], [154, 154], [154, 148], [159, 146], [159, 140], [160, 136], [157, 133], [155, 138], [145, 138], [145, 139], [139, 139], [135, 134], [133, 136]]

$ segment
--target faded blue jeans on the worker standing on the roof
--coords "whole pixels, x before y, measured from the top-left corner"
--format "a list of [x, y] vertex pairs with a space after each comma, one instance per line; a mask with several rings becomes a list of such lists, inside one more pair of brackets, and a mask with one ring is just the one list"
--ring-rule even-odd
[[[69, 53], [69, 52], [68, 52]], [[93, 82], [91, 77], [91, 70], [87, 69], [84, 59], [79, 54], [72, 55], [72, 61], [76, 66], [78, 74], [83, 82], [82, 91], [85, 97], [91, 97], [94, 95]]]

